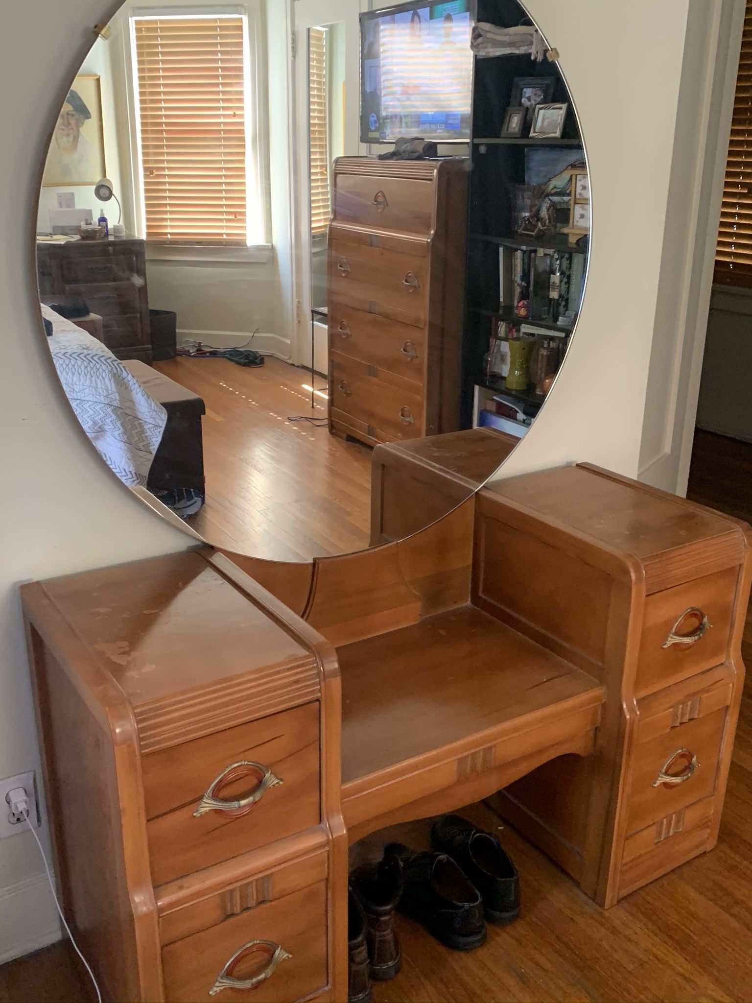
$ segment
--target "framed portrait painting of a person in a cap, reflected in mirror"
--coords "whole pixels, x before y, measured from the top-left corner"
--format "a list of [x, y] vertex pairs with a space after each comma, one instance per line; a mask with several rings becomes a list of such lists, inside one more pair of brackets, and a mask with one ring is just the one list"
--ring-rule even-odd
[[96, 185], [106, 176], [99, 77], [82, 73], [57, 117], [42, 186]]

